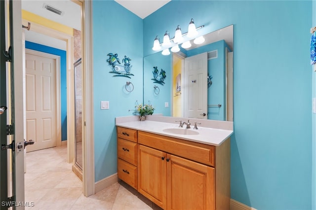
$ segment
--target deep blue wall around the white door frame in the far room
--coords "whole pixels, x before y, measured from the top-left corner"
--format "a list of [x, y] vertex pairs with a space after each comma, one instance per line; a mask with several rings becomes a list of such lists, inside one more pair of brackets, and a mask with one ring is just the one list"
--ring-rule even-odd
[[67, 140], [67, 69], [66, 51], [25, 41], [25, 48], [60, 56], [61, 139]]

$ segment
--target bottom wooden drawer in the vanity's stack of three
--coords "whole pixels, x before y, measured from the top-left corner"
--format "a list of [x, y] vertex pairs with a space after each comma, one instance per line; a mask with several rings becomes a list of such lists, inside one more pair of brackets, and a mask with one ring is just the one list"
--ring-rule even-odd
[[118, 178], [137, 189], [137, 167], [118, 158]]

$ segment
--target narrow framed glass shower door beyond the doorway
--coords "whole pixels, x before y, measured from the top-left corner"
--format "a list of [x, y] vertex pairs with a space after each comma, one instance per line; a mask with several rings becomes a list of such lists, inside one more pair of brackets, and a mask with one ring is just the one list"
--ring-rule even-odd
[[82, 170], [82, 65], [81, 58], [74, 63], [75, 71], [75, 149], [76, 165]]

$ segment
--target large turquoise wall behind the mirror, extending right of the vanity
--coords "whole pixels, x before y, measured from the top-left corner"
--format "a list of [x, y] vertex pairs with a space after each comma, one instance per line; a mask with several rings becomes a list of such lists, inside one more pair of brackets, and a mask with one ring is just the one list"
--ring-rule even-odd
[[312, 1], [173, 0], [144, 19], [144, 55], [191, 18], [202, 34], [234, 24], [231, 197], [258, 210], [310, 210]]

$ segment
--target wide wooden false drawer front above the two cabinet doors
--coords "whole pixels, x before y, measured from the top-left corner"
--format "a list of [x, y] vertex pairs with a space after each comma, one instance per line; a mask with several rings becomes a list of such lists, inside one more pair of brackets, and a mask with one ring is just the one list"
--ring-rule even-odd
[[215, 166], [215, 146], [138, 131], [138, 143]]

